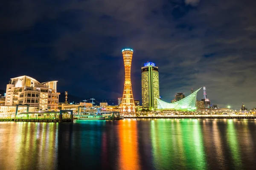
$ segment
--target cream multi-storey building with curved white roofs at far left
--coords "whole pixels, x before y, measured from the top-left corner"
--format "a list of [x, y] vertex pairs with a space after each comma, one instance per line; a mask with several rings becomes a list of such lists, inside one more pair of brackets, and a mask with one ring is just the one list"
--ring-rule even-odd
[[6, 106], [30, 105], [42, 110], [58, 109], [57, 82], [40, 83], [28, 76], [12, 78], [6, 85]]

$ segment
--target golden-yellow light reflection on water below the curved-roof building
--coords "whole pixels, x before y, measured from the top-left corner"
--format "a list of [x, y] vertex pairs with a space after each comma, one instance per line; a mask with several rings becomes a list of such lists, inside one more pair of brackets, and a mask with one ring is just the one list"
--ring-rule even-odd
[[[52, 169], [56, 164], [55, 123], [1, 123], [0, 162], [9, 169]], [[53, 152], [54, 151], [54, 152]]]

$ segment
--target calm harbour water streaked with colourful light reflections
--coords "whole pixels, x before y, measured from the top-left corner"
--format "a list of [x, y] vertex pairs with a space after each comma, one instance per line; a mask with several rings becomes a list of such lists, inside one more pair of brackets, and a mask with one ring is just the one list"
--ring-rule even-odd
[[0, 122], [0, 169], [256, 169], [256, 120]]

